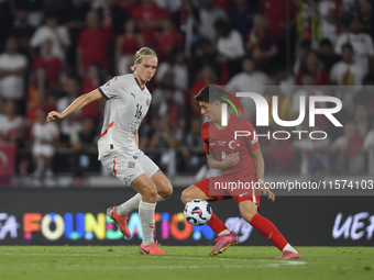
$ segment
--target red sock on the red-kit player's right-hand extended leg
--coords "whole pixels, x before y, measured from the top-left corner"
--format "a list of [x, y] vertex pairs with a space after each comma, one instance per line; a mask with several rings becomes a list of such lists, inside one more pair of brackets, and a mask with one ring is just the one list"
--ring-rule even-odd
[[270, 239], [271, 243], [273, 243], [273, 245], [279, 250], [283, 250], [283, 248], [288, 244], [285, 237], [283, 237], [283, 235], [279, 233], [278, 228], [276, 228], [276, 226], [271, 221], [268, 221], [266, 217], [263, 217], [258, 213], [252, 217], [250, 224], [257, 228], [258, 232]]

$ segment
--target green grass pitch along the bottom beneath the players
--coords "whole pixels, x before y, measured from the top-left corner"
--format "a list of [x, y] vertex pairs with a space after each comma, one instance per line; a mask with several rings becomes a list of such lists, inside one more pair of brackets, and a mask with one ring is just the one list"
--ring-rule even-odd
[[162, 246], [167, 256], [142, 256], [139, 246], [0, 246], [0, 279], [374, 279], [373, 247], [297, 247], [300, 260], [276, 260], [274, 247]]

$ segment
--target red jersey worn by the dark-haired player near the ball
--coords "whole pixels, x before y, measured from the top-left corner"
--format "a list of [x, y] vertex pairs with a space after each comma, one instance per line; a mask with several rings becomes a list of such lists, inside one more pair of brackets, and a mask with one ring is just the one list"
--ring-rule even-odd
[[[235, 131], [248, 131], [251, 135], [238, 136], [235, 139]], [[239, 163], [233, 167], [222, 169], [223, 177], [241, 178], [256, 173], [251, 152], [258, 149], [260, 143], [258, 137], [254, 138], [254, 134], [255, 130], [249, 121], [233, 114], [230, 114], [228, 126], [223, 130], [218, 130], [213, 122], [207, 122], [201, 127], [207, 155], [215, 153], [218, 160], [223, 160], [228, 155], [239, 152]]]

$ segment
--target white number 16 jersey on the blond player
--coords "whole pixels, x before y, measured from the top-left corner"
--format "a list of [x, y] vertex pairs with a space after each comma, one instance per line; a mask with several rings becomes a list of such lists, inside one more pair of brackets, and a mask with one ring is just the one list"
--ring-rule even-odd
[[148, 111], [152, 96], [139, 85], [133, 74], [117, 76], [99, 91], [107, 99], [103, 124], [98, 142], [99, 160], [112, 153], [138, 156], [135, 133]]

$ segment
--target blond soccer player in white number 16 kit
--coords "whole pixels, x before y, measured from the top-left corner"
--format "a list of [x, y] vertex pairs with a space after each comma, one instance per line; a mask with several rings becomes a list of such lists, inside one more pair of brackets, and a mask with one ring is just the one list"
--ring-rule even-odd
[[52, 111], [47, 121], [61, 120], [85, 105], [106, 99], [105, 119], [98, 142], [99, 160], [124, 184], [138, 194], [121, 205], [107, 210], [122, 234], [131, 237], [127, 225], [129, 214], [139, 209], [143, 240], [143, 255], [166, 255], [153, 239], [156, 202], [173, 193], [173, 187], [160, 168], [139, 149], [139, 126], [148, 111], [152, 96], [145, 83], [157, 68], [157, 55], [148, 47], [135, 54], [133, 74], [117, 76], [98, 89], [77, 98], [64, 112]]

